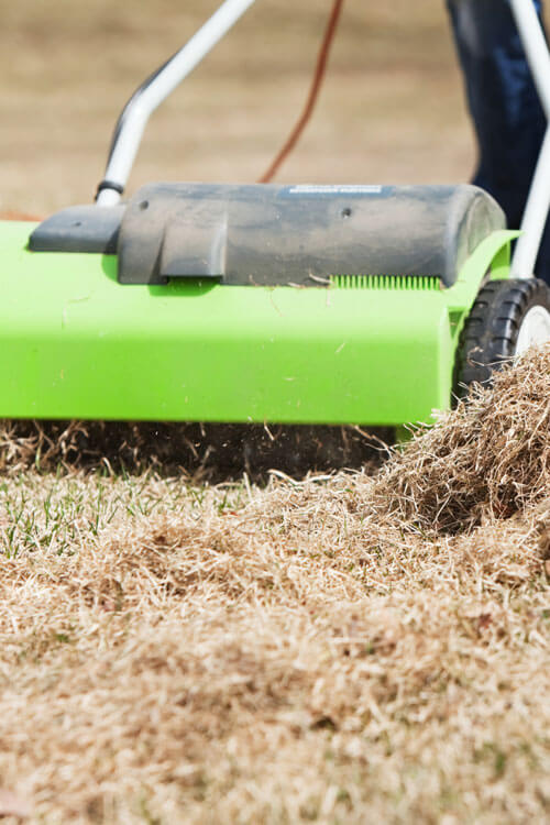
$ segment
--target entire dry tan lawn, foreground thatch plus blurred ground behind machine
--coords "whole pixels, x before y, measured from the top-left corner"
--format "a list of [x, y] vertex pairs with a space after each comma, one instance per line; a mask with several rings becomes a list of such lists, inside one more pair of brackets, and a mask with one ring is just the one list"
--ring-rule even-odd
[[[89, 200], [118, 109], [216, 4], [4, 3], [0, 209]], [[329, 4], [258, 2], [157, 112], [132, 188], [254, 180]], [[280, 179], [472, 165], [441, 0], [348, 0]], [[6, 424], [0, 818], [550, 822], [549, 398], [534, 355], [377, 473], [266, 487], [169, 455], [116, 472], [117, 442], [76, 469], [78, 427]]]

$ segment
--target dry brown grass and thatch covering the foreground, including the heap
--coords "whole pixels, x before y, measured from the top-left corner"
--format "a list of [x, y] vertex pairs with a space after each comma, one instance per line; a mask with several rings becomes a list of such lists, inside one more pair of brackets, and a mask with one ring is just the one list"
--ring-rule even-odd
[[549, 374], [374, 477], [6, 473], [0, 817], [548, 822]]

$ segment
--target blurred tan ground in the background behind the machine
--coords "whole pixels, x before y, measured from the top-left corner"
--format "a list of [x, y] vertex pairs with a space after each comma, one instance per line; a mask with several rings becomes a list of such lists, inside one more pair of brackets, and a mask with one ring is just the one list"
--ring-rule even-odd
[[[0, 210], [86, 202], [141, 80], [218, 0], [2, 0]], [[261, 0], [154, 114], [131, 189], [253, 182], [304, 102], [331, 0]], [[279, 179], [447, 183], [475, 150], [443, 0], [346, 0], [319, 106]]]

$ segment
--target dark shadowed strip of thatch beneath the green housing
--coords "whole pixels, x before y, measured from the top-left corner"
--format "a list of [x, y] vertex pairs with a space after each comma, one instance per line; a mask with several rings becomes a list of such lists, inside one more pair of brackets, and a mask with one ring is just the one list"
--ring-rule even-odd
[[246, 473], [265, 483], [273, 468], [295, 477], [365, 464], [374, 470], [392, 436], [388, 428], [8, 420], [0, 422], [0, 471], [153, 470], [196, 483]]

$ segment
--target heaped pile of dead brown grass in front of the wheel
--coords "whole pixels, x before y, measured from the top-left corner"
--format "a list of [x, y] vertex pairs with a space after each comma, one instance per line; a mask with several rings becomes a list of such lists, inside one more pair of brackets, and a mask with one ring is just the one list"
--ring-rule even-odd
[[520, 514], [549, 484], [550, 355], [538, 351], [397, 452], [374, 498], [392, 518], [452, 532]]

